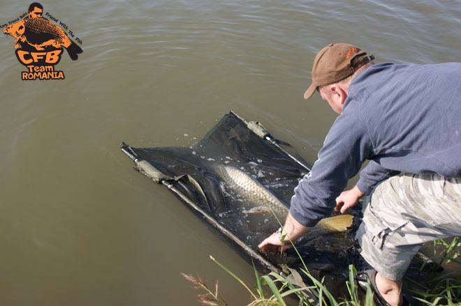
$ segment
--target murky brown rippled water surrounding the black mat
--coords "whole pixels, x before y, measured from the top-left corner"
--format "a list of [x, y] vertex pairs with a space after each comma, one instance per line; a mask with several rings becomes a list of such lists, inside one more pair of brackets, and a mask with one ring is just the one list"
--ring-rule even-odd
[[[314, 162], [335, 114], [305, 102], [316, 52], [459, 61], [459, 1], [63, 1], [44, 13], [82, 40], [61, 81], [22, 81], [0, 36], [0, 304], [199, 305], [180, 273], [219, 279], [229, 305], [251, 264], [119, 151], [191, 146], [229, 110]], [[29, 3], [2, 3], [0, 24]]]

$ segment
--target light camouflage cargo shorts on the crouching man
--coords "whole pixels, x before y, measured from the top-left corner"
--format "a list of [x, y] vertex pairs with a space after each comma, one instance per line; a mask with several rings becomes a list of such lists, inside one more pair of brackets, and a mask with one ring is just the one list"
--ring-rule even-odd
[[363, 258], [390, 280], [401, 280], [424, 243], [461, 236], [461, 177], [401, 174], [364, 201], [356, 238]]

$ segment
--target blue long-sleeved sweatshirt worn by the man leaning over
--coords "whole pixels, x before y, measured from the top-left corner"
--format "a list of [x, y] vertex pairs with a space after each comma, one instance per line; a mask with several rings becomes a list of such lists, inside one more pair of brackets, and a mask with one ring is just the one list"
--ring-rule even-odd
[[407, 172], [461, 176], [461, 63], [379, 63], [360, 72], [328, 132], [319, 159], [291, 199], [291, 215], [312, 227], [360, 172], [369, 194]]

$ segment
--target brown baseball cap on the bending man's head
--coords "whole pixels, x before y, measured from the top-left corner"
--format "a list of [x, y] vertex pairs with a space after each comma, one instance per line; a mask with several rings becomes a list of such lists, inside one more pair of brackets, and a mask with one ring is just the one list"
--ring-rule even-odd
[[348, 43], [330, 44], [317, 53], [312, 66], [312, 84], [304, 94], [309, 99], [319, 86], [339, 82], [366, 63], [374, 56]]

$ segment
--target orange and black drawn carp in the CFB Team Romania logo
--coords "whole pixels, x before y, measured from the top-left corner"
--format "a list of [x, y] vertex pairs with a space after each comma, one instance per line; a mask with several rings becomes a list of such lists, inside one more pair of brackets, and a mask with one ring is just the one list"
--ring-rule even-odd
[[78, 59], [82, 48], [68, 38], [66, 32], [56, 24], [48, 21], [46, 18], [27, 17], [15, 24], [11, 24], [3, 29], [3, 33], [13, 36], [16, 40], [15, 48], [27, 44], [38, 51], [45, 50], [48, 47], [66, 48], [71, 59]]

